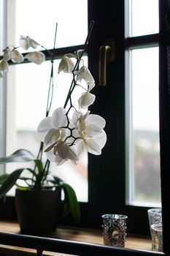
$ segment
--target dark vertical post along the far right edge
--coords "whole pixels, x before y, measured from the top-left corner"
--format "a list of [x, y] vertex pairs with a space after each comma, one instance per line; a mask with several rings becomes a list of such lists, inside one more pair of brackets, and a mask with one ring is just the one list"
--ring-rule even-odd
[[159, 0], [159, 90], [160, 90], [160, 145], [161, 145], [161, 195], [163, 214], [163, 251], [170, 252], [169, 184], [170, 184], [170, 3]]

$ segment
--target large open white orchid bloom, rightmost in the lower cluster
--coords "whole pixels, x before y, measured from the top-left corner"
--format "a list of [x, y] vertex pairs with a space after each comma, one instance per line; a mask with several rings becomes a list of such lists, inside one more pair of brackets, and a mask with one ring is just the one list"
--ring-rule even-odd
[[101, 154], [101, 149], [107, 142], [107, 135], [104, 132], [106, 121], [98, 115], [90, 115], [90, 111], [83, 115], [74, 112], [72, 118], [82, 138], [77, 146], [77, 154], [81, 154], [84, 148], [91, 154]]

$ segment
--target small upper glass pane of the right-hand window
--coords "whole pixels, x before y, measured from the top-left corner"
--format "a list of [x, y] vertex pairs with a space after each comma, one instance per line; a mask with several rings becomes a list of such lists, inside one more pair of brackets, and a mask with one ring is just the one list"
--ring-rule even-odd
[[158, 0], [131, 0], [131, 36], [158, 33]]

